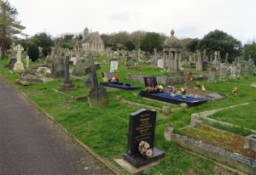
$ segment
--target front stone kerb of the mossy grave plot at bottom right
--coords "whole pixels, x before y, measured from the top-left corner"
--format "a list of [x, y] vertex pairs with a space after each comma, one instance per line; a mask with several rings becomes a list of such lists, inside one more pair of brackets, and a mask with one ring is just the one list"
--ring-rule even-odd
[[178, 144], [186, 150], [207, 156], [214, 161], [223, 163], [241, 172], [246, 172], [251, 175], [256, 174], [256, 161], [253, 159], [176, 133], [171, 133], [171, 140], [172, 143]]

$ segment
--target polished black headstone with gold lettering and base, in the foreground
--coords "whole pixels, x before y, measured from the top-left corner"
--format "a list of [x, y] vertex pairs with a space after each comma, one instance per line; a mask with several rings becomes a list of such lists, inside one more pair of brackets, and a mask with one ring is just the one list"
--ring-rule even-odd
[[[165, 156], [162, 150], [154, 147], [155, 121], [154, 110], [137, 110], [130, 115], [127, 153], [124, 155], [124, 160], [133, 167], [145, 166]], [[149, 144], [147, 150], [152, 151], [151, 155], [144, 155], [139, 149], [140, 144], [145, 142]]]

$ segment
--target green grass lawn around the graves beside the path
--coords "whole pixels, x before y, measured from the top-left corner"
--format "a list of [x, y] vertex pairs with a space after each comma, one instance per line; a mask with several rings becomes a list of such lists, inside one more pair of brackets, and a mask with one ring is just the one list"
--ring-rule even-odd
[[[98, 61], [105, 60], [98, 58]], [[97, 60], [97, 59], [96, 59]], [[12, 83], [21, 92], [26, 93], [28, 98], [38, 104], [39, 107], [46, 110], [49, 115], [55, 118], [55, 121], [65, 127], [69, 133], [72, 133], [84, 144], [87, 144], [96, 151], [98, 155], [111, 161], [115, 166], [117, 164], [113, 159], [122, 158], [126, 152], [127, 132], [129, 126], [129, 115], [141, 109], [138, 106], [119, 103], [116, 96], [121, 96], [123, 99], [131, 100], [141, 104], [154, 105], [155, 107], [163, 107], [166, 104], [157, 103], [151, 100], [146, 100], [137, 95], [139, 90], [125, 91], [119, 89], [108, 88], [108, 98], [110, 104], [101, 108], [90, 108], [87, 99], [76, 101], [67, 98], [65, 95], [56, 93], [53, 89], [60, 87], [61, 78], [56, 78], [55, 82], [47, 82], [35, 84], [28, 87], [22, 87], [15, 82], [20, 75], [11, 74], [4, 65], [7, 65], [7, 59], [0, 60], [0, 75]], [[102, 71], [108, 71], [108, 61], [101, 65], [101, 70], [97, 71], [99, 82], [102, 82]], [[122, 82], [132, 83], [133, 85], [143, 88], [140, 82], [132, 82], [126, 80], [126, 73], [143, 74], [148, 76], [160, 75], [160, 70], [150, 67], [151, 65], [142, 65], [139, 70], [126, 68], [124, 65], [119, 65], [119, 72], [115, 75], [120, 76]], [[90, 88], [83, 86], [82, 80], [74, 81], [76, 90], [65, 92], [74, 96], [87, 95]], [[164, 138], [164, 130], [170, 122], [174, 123], [174, 127], [180, 128], [189, 125], [190, 116], [193, 113], [206, 110], [214, 110], [224, 108], [234, 104], [249, 102], [251, 108], [255, 108], [256, 89], [250, 88], [251, 82], [256, 82], [255, 76], [245, 76], [242, 80], [230, 80], [226, 82], [210, 83], [201, 82], [211, 92], [225, 93], [228, 98], [201, 104], [200, 106], [192, 107], [186, 110], [175, 110], [171, 115], [162, 117], [161, 112], [157, 112], [155, 147], [166, 151], [166, 157], [160, 162], [160, 165], [146, 171], [146, 174], [214, 174], [216, 165], [209, 159], [202, 159], [195, 155], [190, 155], [188, 152], [180, 149], [177, 145], [169, 143]], [[231, 91], [233, 88], [239, 88], [240, 93], [234, 96]], [[135, 94], [134, 94], [135, 93]], [[177, 105], [172, 106], [177, 108]], [[241, 113], [245, 118], [250, 116], [252, 110], [245, 110]], [[234, 113], [225, 113], [225, 118], [233, 117]], [[251, 117], [253, 117], [251, 115]], [[247, 121], [241, 120], [241, 124], [246, 126]], [[221, 169], [221, 167], [218, 167]], [[125, 170], [121, 170], [125, 174]], [[232, 174], [227, 172], [226, 174]]]

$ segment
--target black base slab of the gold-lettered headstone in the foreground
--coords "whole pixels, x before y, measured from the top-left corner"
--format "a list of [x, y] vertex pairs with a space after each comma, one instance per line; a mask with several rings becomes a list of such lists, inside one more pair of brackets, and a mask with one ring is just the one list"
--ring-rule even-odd
[[143, 167], [152, 161], [157, 161], [165, 156], [165, 152], [154, 148], [153, 155], [150, 158], [143, 157], [142, 155], [124, 155], [124, 160], [131, 163], [133, 167]]

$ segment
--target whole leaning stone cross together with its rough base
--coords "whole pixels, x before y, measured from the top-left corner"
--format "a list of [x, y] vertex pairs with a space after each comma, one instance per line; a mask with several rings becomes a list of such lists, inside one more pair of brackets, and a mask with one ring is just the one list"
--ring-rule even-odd
[[90, 74], [90, 80], [92, 82], [92, 87], [88, 95], [90, 107], [108, 105], [107, 90], [99, 85], [96, 75], [96, 65], [94, 65], [91, 53], [89, 54], [88, 59], [90, 59], [90, 66], [85, 68], [84, 71], [86, 74]]

